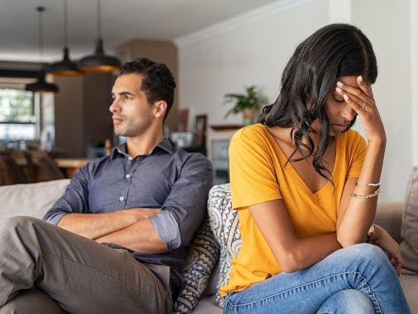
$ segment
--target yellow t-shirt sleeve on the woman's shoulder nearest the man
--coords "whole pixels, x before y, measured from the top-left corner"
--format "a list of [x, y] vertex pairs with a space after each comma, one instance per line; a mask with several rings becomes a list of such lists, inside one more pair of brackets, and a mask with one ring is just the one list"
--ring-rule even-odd
[[235, 133], [229, 145], [229, 171], [233, 209], [281, 199], [268, 145], [259, 135]]

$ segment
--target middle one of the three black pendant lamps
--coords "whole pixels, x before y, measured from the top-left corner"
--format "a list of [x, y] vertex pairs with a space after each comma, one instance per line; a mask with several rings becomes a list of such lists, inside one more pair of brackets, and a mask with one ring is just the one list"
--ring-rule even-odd
[[77, 68], [77, 64], [70, 60], [70, 50], [68, 49], [68, 5], [67, 0], [64, 0], [64, 47], [63, 59], [59, 62], [52, 63], [48, 72], [54, 75], [63, 76], [78, 76], [83, 73]]

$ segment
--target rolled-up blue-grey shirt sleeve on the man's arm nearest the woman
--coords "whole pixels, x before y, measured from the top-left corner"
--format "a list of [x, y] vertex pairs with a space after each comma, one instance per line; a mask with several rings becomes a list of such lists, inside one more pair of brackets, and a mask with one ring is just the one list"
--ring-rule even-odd
[[212, 165], [202, 154], [191, 154], [161, 208], [150, 218], [169, 251], [189, 245], [206, 215], [212, 187]]

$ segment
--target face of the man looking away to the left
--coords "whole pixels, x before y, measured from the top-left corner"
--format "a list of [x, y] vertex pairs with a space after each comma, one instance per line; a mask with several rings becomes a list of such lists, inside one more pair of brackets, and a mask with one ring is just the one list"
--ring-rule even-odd
[[112, 113], [116, 135], [134, 137], [143, 134], [153, 123], [153, 106], [141, 91], [142, 77], [137, 73], [119, 76], [111, 90]]

